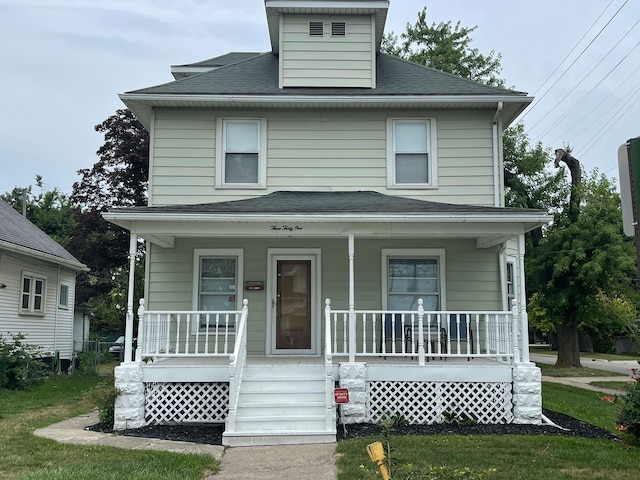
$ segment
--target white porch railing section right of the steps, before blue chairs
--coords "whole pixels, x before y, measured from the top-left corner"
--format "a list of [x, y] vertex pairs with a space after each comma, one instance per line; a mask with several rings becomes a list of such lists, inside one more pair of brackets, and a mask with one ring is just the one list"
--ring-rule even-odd
[[[489, 357], [519, 360], [514, 311], [332, 310], [326, 300], [327, 336], [334, 356], [414, 357], [420, 365], [431, 357]], [[355, 352], [349, 351], [349, 319], [355, 320]], [[515, 332], [515, 334], [514, 334]]]

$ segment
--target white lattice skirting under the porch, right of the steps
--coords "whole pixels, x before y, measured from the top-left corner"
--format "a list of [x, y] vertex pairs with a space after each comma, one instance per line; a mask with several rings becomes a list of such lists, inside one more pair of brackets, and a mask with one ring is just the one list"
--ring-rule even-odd
[[366, 421], [402, 414], [410, 424], [456, 418], [477, 423], [513, 421], [511, 383], [367, 382]]

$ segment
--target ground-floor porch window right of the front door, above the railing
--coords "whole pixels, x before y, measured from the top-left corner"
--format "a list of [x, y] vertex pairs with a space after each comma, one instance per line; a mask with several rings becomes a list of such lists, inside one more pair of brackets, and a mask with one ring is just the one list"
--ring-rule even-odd
[[423, 300], [425, 310], [440, 310], [443, 305], [444, 251], [383, 250], [385, 309], [417, 310]]

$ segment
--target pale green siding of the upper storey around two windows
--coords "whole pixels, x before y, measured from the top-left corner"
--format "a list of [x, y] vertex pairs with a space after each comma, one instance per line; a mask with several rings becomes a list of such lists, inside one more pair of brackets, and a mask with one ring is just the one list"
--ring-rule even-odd
[[[387, 119], [411, 118], [394, 110], [158, 109], [150, 205], [240, 200], [251, 188], [215, 188], [216, 118], [266, 118], [266, 188], [373, 190], [422, 200], [494, 205], [489, 112], [421, 112], [437, 121], [438, 188], [387, 188]], [[244, 116], [246, 115], [246, 116]], [[463, 120], [460, 120], [463, 118]]]

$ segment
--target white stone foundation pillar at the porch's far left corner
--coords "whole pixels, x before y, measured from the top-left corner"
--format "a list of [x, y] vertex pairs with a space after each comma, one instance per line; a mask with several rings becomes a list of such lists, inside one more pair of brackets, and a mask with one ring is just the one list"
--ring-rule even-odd
[[115, 387], [118, 397], [115, 403], [114, 430], [140, 428], [144, 420], [144, 383], [140, 363], [122, 363], [115, 368]]

